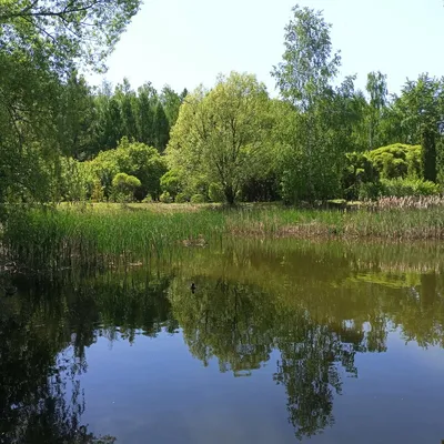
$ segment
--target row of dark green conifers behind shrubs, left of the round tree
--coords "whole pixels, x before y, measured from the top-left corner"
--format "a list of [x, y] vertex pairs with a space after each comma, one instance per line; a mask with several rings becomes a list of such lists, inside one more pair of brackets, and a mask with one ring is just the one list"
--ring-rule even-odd
[[168, 85], [158, 92], [149, 82], [134, 91], [128, 79], [114, 89], [108, 82], [91, 88], [75, 72], [63, 90], [65, 152], [79, 161], [117, 148], [123, 137], [163, 152], [188, 94]]

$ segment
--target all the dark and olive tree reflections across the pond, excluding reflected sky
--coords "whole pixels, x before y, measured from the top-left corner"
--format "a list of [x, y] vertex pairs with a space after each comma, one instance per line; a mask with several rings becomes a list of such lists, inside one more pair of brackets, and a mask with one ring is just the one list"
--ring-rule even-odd
[[18, 293], [0, 299], [0, 443], [113, 442], [82, 423], [85, 349], [161, 332], [181, 332], [193, 356], [234, 376], [278, 352], [270, 364], [289, 423], [297, 438], [313, 436], [334, 425], [356, 355], [387, 352], [389, 331], [444, 346], [434, 254], [255, 243], [196, 249], [161, 273], [14, 275]]

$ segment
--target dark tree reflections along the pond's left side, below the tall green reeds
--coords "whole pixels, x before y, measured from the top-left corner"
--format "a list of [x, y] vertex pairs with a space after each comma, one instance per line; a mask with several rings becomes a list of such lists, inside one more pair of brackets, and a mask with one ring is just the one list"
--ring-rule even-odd
[[169, 280], [133, 282], [114, 274], [14, 284], [19, 293], [0, 299], [0, 443], [113, 443], [81, 422], [85, 349], [115, 326], [129, 341], [137, 331], [174, 331]]

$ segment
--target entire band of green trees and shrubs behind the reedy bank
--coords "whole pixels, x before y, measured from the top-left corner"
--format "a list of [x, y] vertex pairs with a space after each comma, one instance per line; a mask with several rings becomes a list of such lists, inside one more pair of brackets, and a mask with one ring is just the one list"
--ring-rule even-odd
[[[44, 58], [54, 44], [42, 37], [44, 22], [19, 27], [47, 17], [32, 8], [0, 17], [17, 33], [0, 50], [10, 68], [0, 84], [2, 202], [294, 203], [442, 190], [444, 79], [421, 74], [398, 95], [389, 94], [381, 72], [369, 73], [365, 91], [355, 75], [341, 82], [321, 12], [293, 8], [282, 62], [272, 69], [274, 99], [254, 75], [236, 72], [190, 93], [150, 83], [135, 91], [128, 80], [94, 90], [73, 63], [75, 50], [91, 63], [81, 42], [67, 48], [63, 40], [69, 21], [59, 23], [61, 34], [68, 28], [56, 38], [57, 60]], [[118, 11], [121, 30], [129, 17]], [[36, 33], [41, 42], [32, 48]]]

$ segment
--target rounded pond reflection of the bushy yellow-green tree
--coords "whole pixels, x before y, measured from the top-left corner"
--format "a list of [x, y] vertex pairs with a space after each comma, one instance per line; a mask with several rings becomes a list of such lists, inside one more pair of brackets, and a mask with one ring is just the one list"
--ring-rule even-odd
[[198, 289], [173, 292], [174, 315], [191, 353], [204, 365], [216, 356], [221, 372], [235, 375], [259, 369], [272, 351], [273, 309], [264, 306], [263, 294], [224, 280]]

